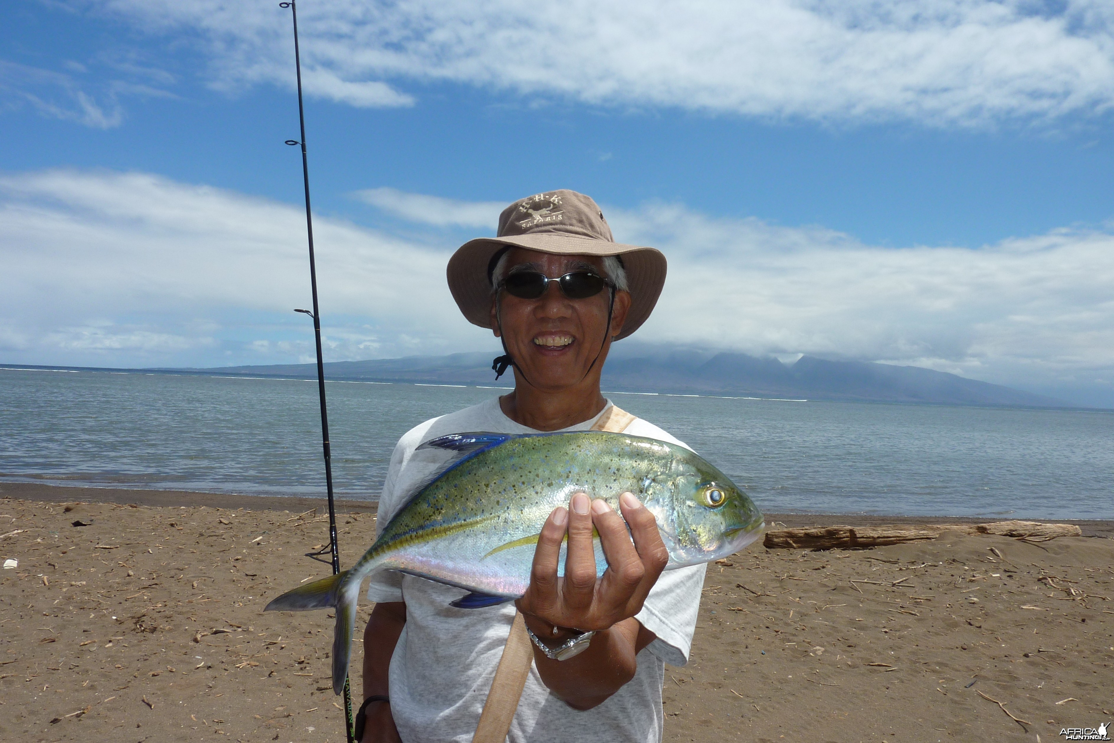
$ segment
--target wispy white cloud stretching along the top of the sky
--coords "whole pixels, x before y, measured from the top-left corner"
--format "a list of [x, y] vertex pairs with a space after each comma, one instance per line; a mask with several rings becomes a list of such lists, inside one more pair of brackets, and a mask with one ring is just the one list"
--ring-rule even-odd
[[[153, 32], [199, 32], [218, 86], [292, 84], [290, 18], [272, 6], [92, 4]], [[600, 106], [944, 126], [1114, 102], [1105, 0], [334, 0], [301, 8], [299, 28], [309, 92], [359, 106], [409, 105], [390, 87], [408, 80]]]

